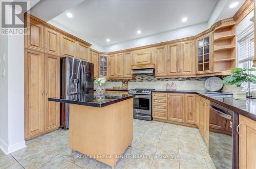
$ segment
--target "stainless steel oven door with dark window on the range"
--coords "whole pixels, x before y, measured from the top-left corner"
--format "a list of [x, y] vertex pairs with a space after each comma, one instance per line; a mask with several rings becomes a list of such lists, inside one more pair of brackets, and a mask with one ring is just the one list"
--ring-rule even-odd
[[151, 96], [136, 95], [133, 100], [133, 112], [137, 114], [151, 115]]

